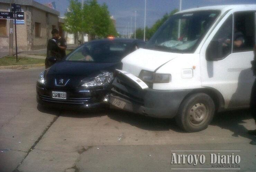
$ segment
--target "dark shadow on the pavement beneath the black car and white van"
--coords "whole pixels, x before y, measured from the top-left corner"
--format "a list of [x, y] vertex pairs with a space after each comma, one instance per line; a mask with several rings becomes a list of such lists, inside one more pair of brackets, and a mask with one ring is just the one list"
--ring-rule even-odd
[[[168, 131], [173, 130], [175, 132], [184, 131], [181, 130], [175, 123], [174, 119], [163, 119], [146, 117], [139, 114], [133, 114], [131, 112], [108, 109], [108, 108], [96, 108], [91, 110], [63, 110], [63, 109], [47, 109], [41, 106], [37, 107], [39, 111], [47, 114], [71, 117], [71, 118], [92, 118], [108, 116], [112, 120], [116, 120], [120, 123], [128, 123], [131, 126], [135, 126], [144, 130], [150, 131]], [[252, 119], [249, 110], [236, 110], [217, 113], [210, 125], [218, 126], [222, 129], [230, 130], [233, 132], [233, 137], [244, 137], [248, 139], [255, 139], [254, 136], [248, 135], [248, 129], [243, 126], [244, 120]]]

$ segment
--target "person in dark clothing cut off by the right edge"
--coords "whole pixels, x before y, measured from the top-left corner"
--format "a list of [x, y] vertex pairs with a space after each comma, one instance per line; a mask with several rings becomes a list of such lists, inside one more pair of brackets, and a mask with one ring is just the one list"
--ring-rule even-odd
[[[254, 61], [252, 61], [252, 69], [253, 69], [253, 74], [256, 76], [256, 45], [254, 46]], [[254, 82], [253, 88], [252, 88], [250, 108], [252, 110], [252, 115], [253, 115], [255, 123], [256, 123], [256, 79], [255, 79], [255, 82]], [[249, 130], [248, 133], [250, 135], [254, 135], [256, 137], [256, 130]], [[256, 145], [256, 141], [252, 140], [250, 142], [250, 144]]]

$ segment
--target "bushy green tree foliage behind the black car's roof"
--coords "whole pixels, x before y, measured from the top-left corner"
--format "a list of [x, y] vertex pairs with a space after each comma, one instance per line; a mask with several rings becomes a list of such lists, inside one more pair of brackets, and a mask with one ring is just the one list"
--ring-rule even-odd
[[70, 12], [65, 13], [64, 29], [70, 33], [87, 33], [91, 39], [96, 36], [103, 38], [108, 35], [117, 35], [113, 21], [110, 19], [108, 6], [102, 6], [97, 0], [87, 0], [81, 9], [81, 3], [70, 0]]

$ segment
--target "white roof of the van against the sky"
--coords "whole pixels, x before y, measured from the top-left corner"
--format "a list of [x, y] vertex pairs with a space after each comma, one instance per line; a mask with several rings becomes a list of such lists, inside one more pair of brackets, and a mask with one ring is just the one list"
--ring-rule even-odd
[[221, 13], [223, 13], [231, 9], [237, 9], [237, 10], [239, 9], [239, 11], [256, 10], [256, 4], [199, 7], [199, 8], [192, 8], [188, 10], [182, 10], [180, 12], [177, 12], [176, 14], [183, 13], [183, 12], [203, 11], [203, 10], [220, 10]]

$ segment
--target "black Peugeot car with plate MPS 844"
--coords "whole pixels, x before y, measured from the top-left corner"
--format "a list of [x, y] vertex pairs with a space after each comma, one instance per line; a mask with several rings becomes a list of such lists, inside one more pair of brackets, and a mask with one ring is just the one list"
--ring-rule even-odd
[[38, 104], [74, 109], [107, 105], [113, 71], [143, 44], [134, 39], [102, 39], [79, 46], [39, 75]]

